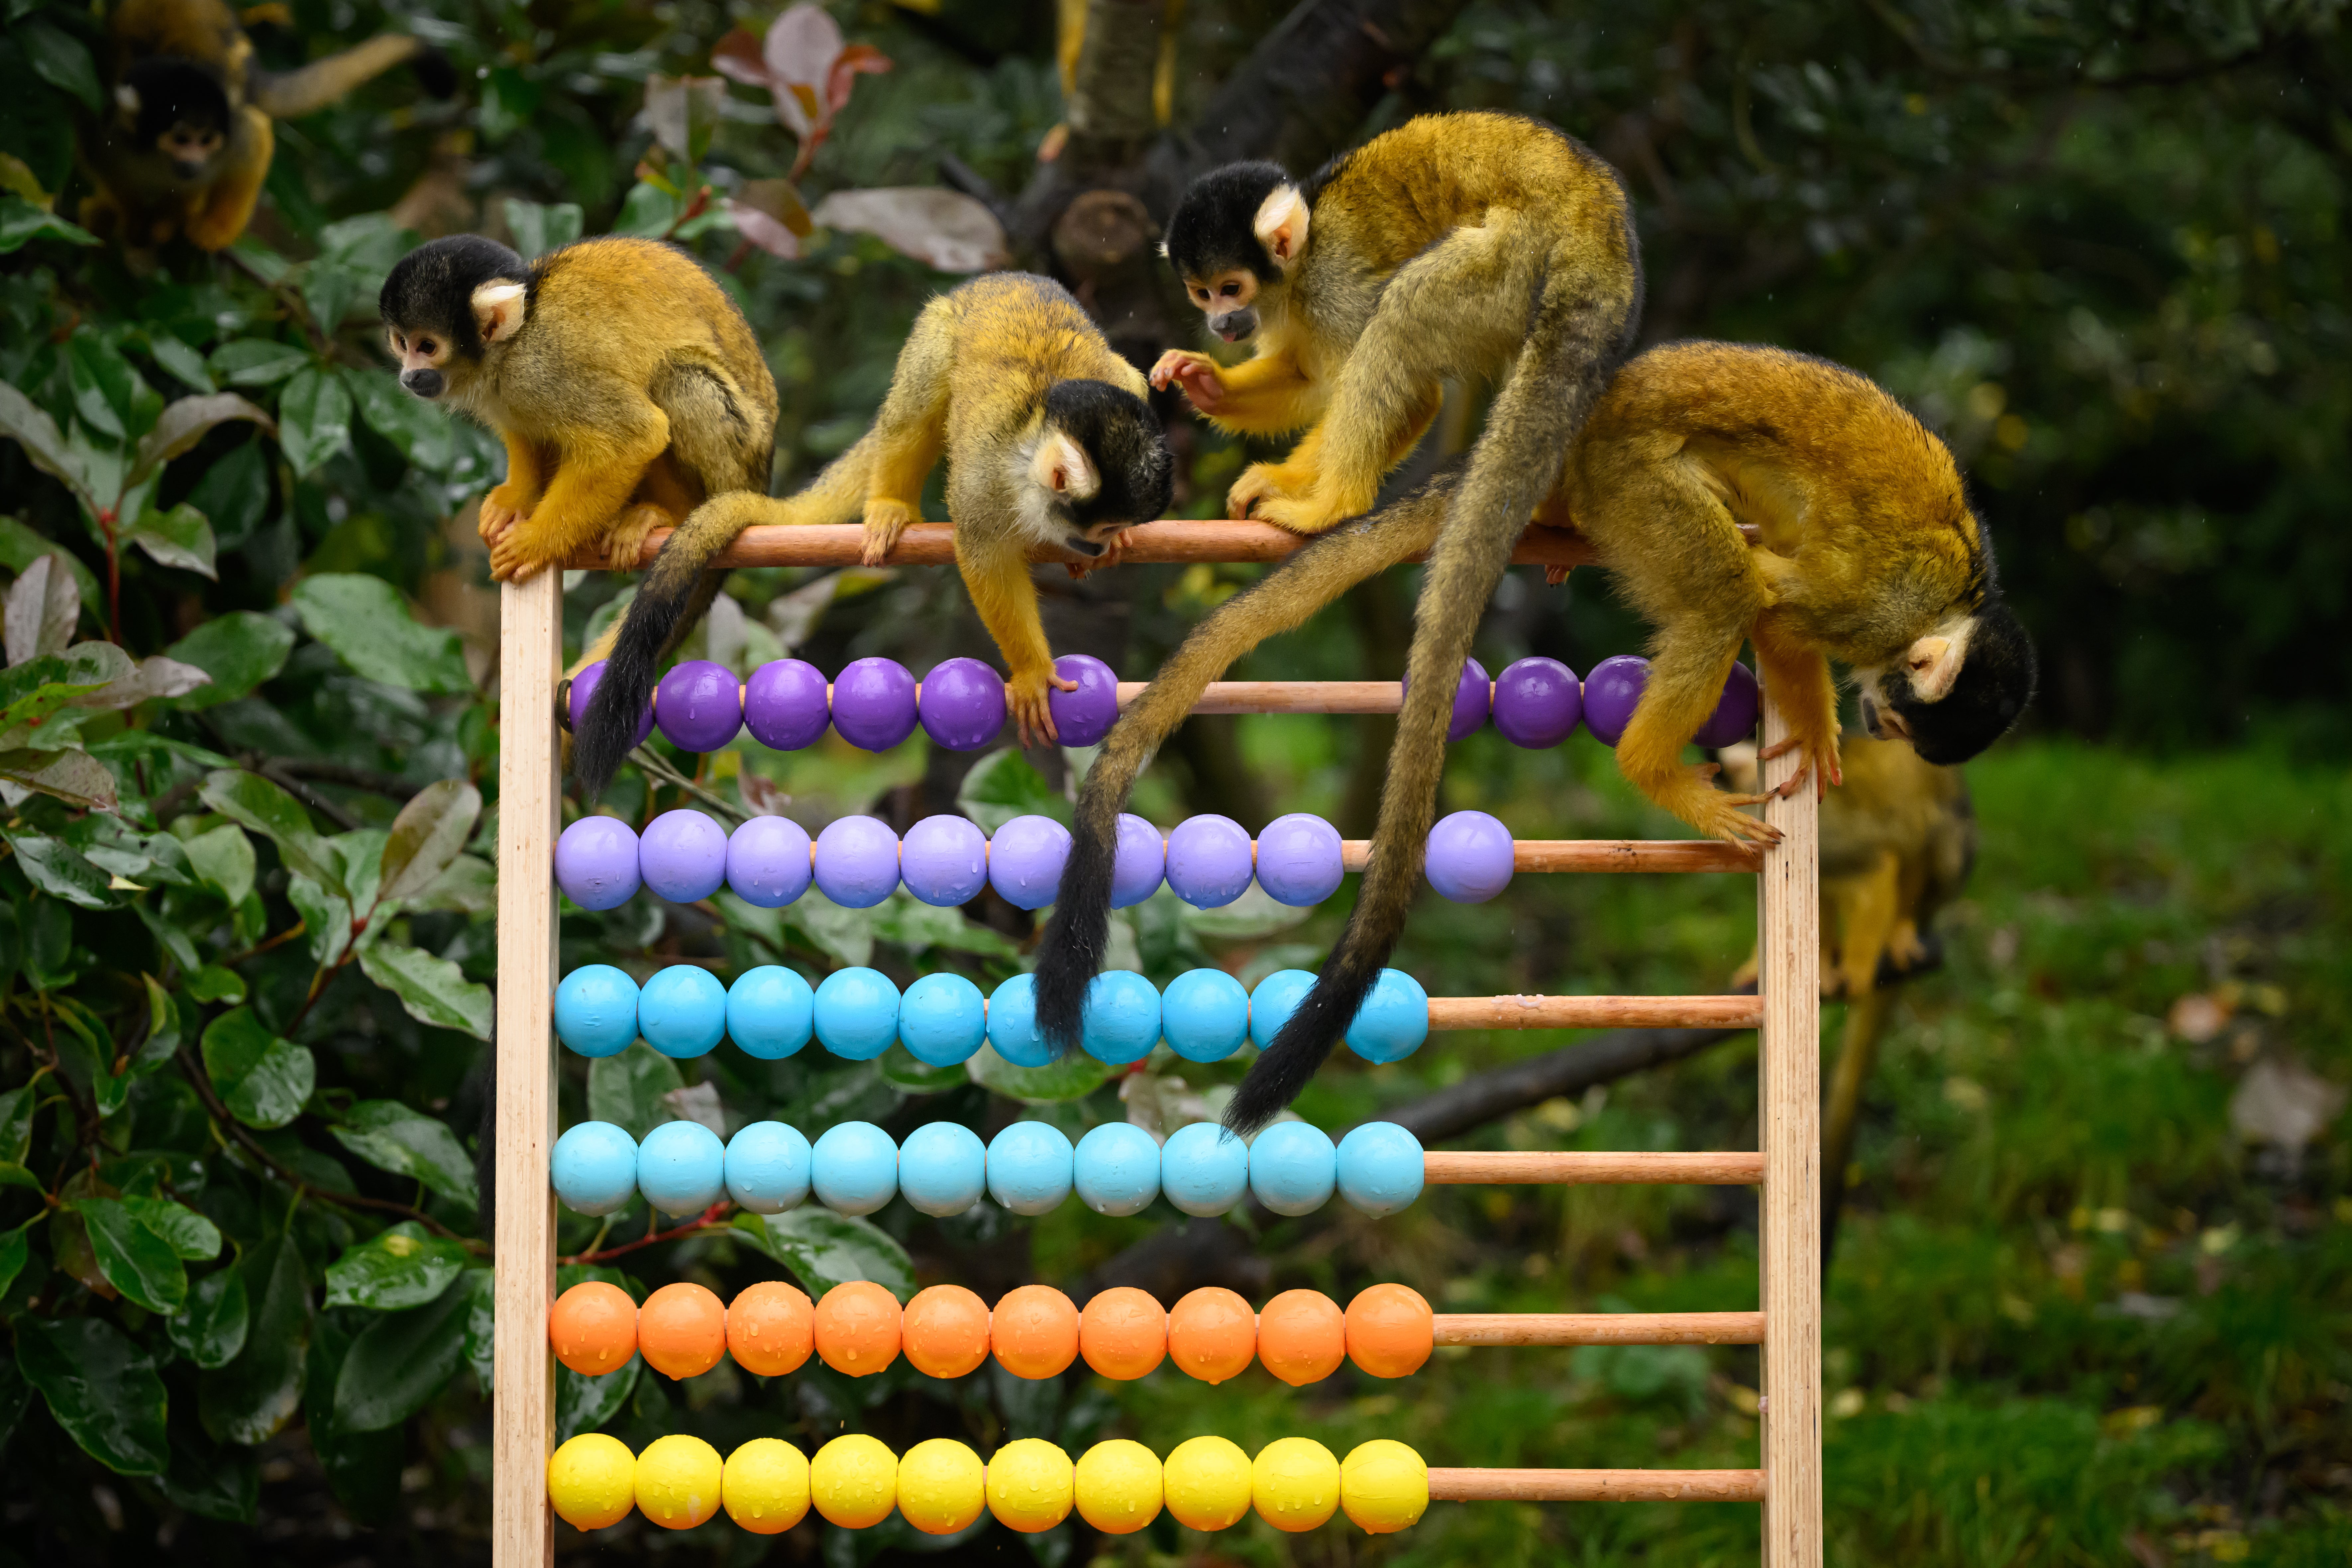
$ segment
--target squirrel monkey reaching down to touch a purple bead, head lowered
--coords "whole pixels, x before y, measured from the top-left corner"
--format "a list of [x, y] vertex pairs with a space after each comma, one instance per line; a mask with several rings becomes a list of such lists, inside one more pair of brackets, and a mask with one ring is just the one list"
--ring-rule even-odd
[[898, 350], [873, 430], [795, 496], [717, 496], [661, 545], [572, 738], [572, 771], [593, 799], [612, 780], [654, 691], [654, 665], [710, 602], [710, 562], [753, 524], [866, 520], [866, 564], [880, 564], [922, 515], [922, 484], [948, 458], [955, 567], [988, 635], [1011, 665], [1007, 705], [1021, 731], [1054, 741], [1054, 675], [1028, 550], [1117, 559], [1120, 534], [1174, 494], [1174, 463], [1143, 376], [1110, 350], [1061, 284], [990, 273], [941, 294]]

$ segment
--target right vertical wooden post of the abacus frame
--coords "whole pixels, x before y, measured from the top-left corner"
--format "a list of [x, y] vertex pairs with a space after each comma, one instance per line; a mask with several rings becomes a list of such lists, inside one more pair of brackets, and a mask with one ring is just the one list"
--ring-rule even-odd
[[[1764, 686], [1764, 748], [1788, 715]], [[1764, 764], [1788, 780], [1790, 752]], [[1820, 1566], [1820, 832], [1816, 780], [1764, 806], [1757, 877], [1757, 1133], [1764, 1147], [1764, 1568]]]

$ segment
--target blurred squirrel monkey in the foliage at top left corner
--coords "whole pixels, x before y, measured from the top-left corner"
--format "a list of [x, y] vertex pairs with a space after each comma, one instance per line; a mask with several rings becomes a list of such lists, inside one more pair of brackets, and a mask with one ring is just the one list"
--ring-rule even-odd
[[270, 120], [292, 120], [402, 61], [449, 96], [449, 61], [416, 38], [386, 33], [263, 73], [221, 0], [122, 0], [106, 26], [106, 110], [82, 127], [82, 228], [153, 249], [186, 235], [198, 249], [233, 244], [270, 172]]

